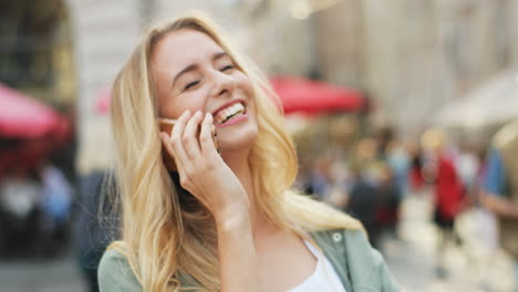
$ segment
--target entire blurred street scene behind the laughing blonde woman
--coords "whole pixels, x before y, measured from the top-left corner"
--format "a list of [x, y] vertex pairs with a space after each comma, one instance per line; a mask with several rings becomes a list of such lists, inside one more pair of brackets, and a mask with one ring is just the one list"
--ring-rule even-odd
[[0, 2], [0, 291], [96, 291], [111, 84], [188, 9], [270, 79], [294, 187], [359, 218], [406, 291], [518, 291], [518, 0]]

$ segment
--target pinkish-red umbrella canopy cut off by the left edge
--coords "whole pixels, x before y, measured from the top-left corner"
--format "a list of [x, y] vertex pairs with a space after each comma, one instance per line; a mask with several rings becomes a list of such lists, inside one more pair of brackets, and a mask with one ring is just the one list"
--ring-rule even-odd
[[62, 123], [49, 106], [0, 83], [0, 137], [34, 138], [61, 128]]

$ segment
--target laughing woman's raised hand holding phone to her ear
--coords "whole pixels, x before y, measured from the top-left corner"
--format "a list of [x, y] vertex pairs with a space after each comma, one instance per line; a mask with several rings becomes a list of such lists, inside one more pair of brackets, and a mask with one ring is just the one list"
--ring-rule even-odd
[[237, 213], [248, 216], [248, 195], [218, 154], [213, 116], [186, 111], [176, 122], [163, 122], [165, 131], [172, 129], [160, 133], [164, 158], [169, 159], [167, 168], [178, 174], [180, 187], [213, 213], [217, 226], [226, 226]]

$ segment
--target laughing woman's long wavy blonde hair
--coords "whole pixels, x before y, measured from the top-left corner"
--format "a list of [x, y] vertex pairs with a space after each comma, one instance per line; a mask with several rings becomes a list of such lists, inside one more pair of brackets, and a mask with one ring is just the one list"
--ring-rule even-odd
[[361, 228], [351, 217], [290, 190], [298, 171], [297, 154], [283, 129], [280, 103], [274, 102], [276, 95], [269, 83], [252, 62], [232, 49], [213, 21], [199, 12], [190, 13], [151, 29], [118, 73], [112, 92], [122, 240], [110, 248], [126, 255], [143, 290], [179, 291], [196, 285], [219, 291], [213, 217], [200, 206], [184, 206], [180, 189], [164, 166], [156, 124], [153, 48], [167, 33], [180, 29], [210, 36], [250, 79], [258, 134], [248, 163], [252, 169], [258, 211], [274, 225], [301, 236], [322, 229]]

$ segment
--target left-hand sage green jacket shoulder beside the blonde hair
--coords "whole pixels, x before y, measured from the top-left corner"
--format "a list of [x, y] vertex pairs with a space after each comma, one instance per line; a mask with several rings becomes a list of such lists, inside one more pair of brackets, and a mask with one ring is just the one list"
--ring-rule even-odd
[[104, 252], [97, 278], [101, 291], [142, 291], [126, 255], [115, 249]]

